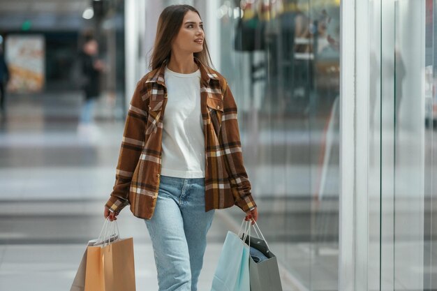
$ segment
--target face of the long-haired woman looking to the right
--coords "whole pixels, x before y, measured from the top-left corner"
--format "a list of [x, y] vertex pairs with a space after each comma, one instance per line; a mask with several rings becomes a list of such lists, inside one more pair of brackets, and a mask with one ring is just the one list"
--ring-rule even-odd
[[188, 53], [201, 52], [203, 50], [203, 22], [198, 13], [188, 10], [184, 16], [182, 27], [172, 43], [172, 51], [183, 51]]

